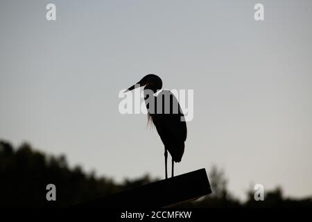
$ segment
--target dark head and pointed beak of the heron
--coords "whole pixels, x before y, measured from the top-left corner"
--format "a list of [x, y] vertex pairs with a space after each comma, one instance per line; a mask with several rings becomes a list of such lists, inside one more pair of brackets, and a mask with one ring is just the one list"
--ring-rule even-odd
[[159, 89], [162, 89], [162, 79], [154, 74], [148, 74], [139, 80], [139, 82], [135, 83], [135, 85], [132, 85], [132, 87], [125, 90], [125, 92], [129, 92], [132, 89], [143, 86], [145, 86], [144, 89], [151, 89], [155, 93]]

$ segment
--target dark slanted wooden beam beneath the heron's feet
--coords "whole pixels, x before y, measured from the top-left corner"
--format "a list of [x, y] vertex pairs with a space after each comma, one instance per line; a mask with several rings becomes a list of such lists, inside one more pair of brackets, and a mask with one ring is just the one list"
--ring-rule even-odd
[[149, 208], [166, 207], [211, 194], [205, 169], [159, 180], [135, 189], [98, 198], [75, 207]]

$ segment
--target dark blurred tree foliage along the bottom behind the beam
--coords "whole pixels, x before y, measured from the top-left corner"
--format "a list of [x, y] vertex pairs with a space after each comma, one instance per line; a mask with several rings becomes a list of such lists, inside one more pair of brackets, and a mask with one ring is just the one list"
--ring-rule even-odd
[[[284, 198], [279, 187], [266, 192], [265, 201], [255, 201], [250, 190], [248, 200], [241, 203], [229, 194], [224, 172], [216, 167], [209, 171], [209, 180], [213, 194], [176, 207], [312, 207], [312, 198]], [[116, 183], [85, 173], [80, 167], [69, 168], [64, 155], [47, 156], [26, 143], [13, 148], [9, 142], [0, 141], [0, 181], [0, 207], [66, 207], [155, 180], [143, 176]], [[57, 187], [57, 201], [46, 200], [46, 185], [51, 183]]]

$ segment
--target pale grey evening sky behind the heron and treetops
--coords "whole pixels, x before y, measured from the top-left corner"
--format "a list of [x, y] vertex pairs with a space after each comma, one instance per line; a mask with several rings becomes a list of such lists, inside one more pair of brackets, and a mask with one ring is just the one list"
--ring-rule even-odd
[[153, 73], [194, 89], [177, 174], [217, 164], [240, 197], [251, 182], [312, 195], [311, 22], [312, 1], [2, 0], [0, 138], [116, 180], [162, 178], [156, 130], [118, 112], [119, 90]]

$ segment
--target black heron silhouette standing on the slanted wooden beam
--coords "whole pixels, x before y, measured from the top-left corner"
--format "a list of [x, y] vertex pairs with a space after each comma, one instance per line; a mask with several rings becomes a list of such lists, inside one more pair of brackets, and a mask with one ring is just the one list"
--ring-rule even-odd
[[144, 76], [138, 83], [125, 90], [129, 92], [137, 87], [144, 87], [144, 100], [148, 110], [148, 121], [153, 121], [157, 133], [164, 144], [165, 175], [168, 178], [167, 159], [168, 152], [172, 157], [171, 177], [173, 177], [174, 163], [182, 160], [184, 142], [187, 139], [187, 123], [180, 104], [168, 90], [162, 90], [157, 96], [156, 92], [162, 89], [162, 79], [154, 74]]

